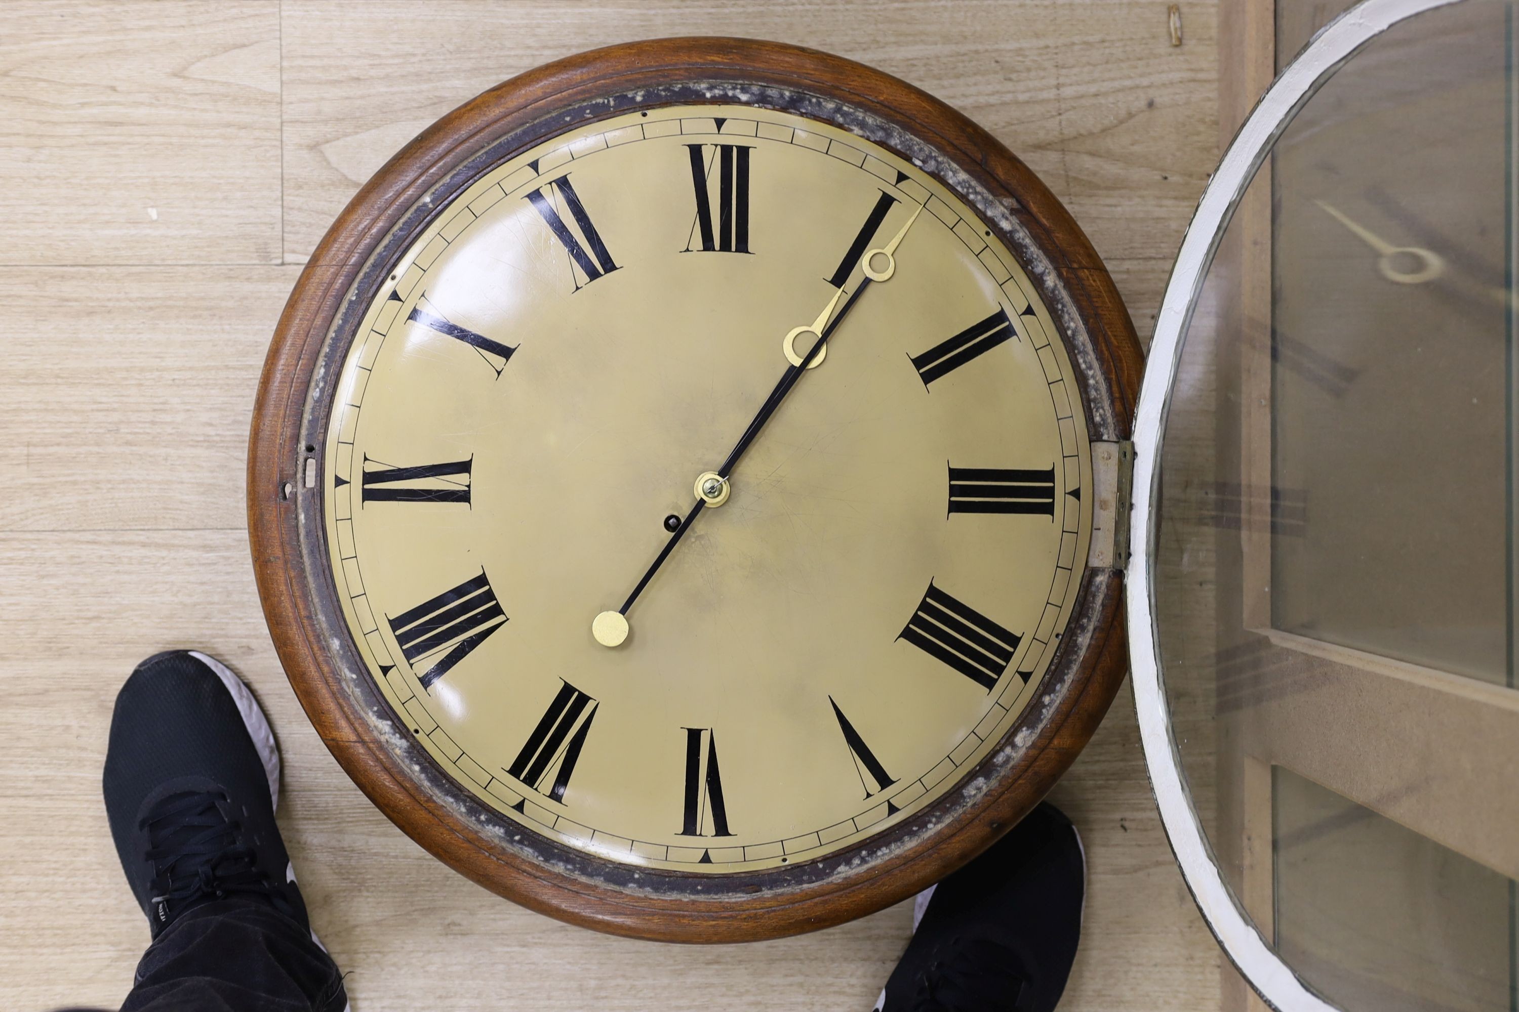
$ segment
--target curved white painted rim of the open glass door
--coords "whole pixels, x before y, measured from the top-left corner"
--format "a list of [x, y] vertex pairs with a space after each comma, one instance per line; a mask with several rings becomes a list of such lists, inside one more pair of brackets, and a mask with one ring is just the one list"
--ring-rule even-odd
[[1153, 528], [1167, 411], [1180, 363], [1182, 337], [1191, 325], [1203, 278], [1240, 199], [1276, 140], [1318, 86], [1356, 50], [1401, 21], [1460, 2], [1364, 0], [1328, 24], [1271, 83], [1224, 152], [1186, 228], [1161, 302], [1135, 410], [1133, 505], [1129, 520], [1129, 543], [1133, 548], [1126, 598], [1135, 706], [1150, 786], [1171, 850], [1209, 930], [1246, 980], [1281, 1012], [1332, 1012], [1337, 1006], [1297, 979], [1235, 901], [1186, 792], [1180, 756], [1171, 734], [1171, 712], [1165, 699], [1154, 628]]

